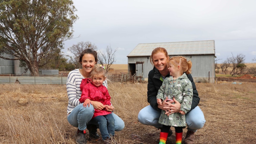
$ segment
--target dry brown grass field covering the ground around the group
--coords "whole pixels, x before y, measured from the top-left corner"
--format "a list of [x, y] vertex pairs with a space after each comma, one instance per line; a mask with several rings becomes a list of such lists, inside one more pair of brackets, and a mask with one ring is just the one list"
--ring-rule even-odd
[[[65, 86], [0, 85], [0, 143], [75, 144], [76, 128], [66, 118]], [[195, 133], [197, 144], [256, 143], [256, 83], [197, 83], [206, 124]], [[147, 84], [109, 83], [115, 113], [125, 122], [116, 132], [121, 144], [158, 144], [159, 130], [138, 122], [147, 102]], [[173, 129], [173, 128], [172, 128]], [[174, 129], [173, 129], [174, 132]], [[187, 130], [184, 129], [183, 136]], [[99, 133], [99, 131], [98, 131]], [[167, 144], [175, 143], [175, 134]], [[101, 144], [91, 139], [88, 144]]]

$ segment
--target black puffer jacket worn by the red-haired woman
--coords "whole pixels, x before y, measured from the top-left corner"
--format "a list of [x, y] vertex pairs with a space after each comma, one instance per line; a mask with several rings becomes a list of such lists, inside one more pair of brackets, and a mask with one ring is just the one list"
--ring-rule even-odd
[[[165, 77], [169, 77], [169, 76], [170, 75], [168, 74]], [[192, 110], [199, 104], [200, 98], [198, 96], [198, 92], [196, 90], [196, 86], [195, 86], [192, 75], [189, 74], [187, 75], [187, 77], [191, 81], [192, 87], [193, 87], [193, 99], [192, 99], [192, 105], [191, 105], [191, 110]], [[159, 111], [161, 111], [161, 109], [157, 107], [156, 96], [159, 88], [162, 86], [162, 83], [163, 83], [162, 78], [161, 79], [160, 78], [161, 78], [161, 74], [155, 67], [148, 73], [148, 102], [155, 110], [159, 110]]]

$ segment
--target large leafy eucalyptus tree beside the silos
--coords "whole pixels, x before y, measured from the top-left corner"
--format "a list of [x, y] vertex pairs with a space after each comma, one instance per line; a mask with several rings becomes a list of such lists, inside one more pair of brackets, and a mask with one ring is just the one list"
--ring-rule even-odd
[[73, 37], [75, 11], [72, 0], [0, 1], [0, 58], [25, 61], [31, 74], [39, 74], [39, 67]]

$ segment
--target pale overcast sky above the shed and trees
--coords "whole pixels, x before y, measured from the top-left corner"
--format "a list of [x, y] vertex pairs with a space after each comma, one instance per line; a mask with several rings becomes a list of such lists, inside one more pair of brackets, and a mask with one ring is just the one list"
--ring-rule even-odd
[[[67, 48], [90, 41], [99, 50], [111, 46], [115, 64], [140, 43], [215, 40], [218, 63], [237, 54], [256, 58], [255, 0], [73, 0], [79, 19]], [[256, 61], [255, 61], [256, 62]]]

